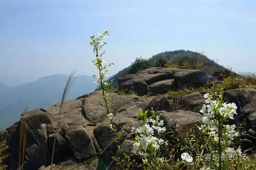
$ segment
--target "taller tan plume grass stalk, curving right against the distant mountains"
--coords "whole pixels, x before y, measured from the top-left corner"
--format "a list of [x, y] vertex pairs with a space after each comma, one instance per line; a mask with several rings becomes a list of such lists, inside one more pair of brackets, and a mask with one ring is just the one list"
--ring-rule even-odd
[[58, 130], [58, 122], [59, 122], [59, 117], [61, 115], [61, 111], [62, 111], [62, 106], [63, 103], [65, 101], [65, 97], [68, 94], [70, 88], [72, 87], [74, 81], [75, 81], [75, 75], [76, 75], [76, 71], [75, 69], [73, 69], [68, 77], [68, 80], [66, 82], [65, 88], [63, 90], [63, 94], [62, 94], [62, 101], [61, 101], [61, 105], [60, 105], [60, 109], [58, 112], [58, 119], [56, 122], [56, 129], [55, 129], [55, 136], [54, 136], [54, 142], [53, 142], [53, 147], [52, 147], [52, 158], [51, 158], [51, 170], [52, 170], [52, 164], [53, 164], [53, 157], [54, 157], [54, 151], [55, 151], [55, 142], [56, 142], [56, 134], [57, 134], [57, 130]]

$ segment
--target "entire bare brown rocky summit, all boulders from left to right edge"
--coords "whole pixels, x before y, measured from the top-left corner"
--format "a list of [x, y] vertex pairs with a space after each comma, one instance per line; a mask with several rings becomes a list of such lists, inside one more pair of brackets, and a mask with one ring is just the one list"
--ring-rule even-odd
[[[110, 112], [114, 115], [113, 124], [117, 129], [125, 127], [122, 139], [124, 151], [132, 150], [134, 139], [132, 128], [139, 126], [136, 119], [139, 108], [143, 110], [153, 108], [157, 114], [161, 113], [160, 118], [164, 120], [168, 130], [186, 132], [191, 126], [201, 122], [201, 113], [194, 112], [190, 108], [201, 105], [206, 92], [182, 96], [181, 100], [185, 107], [177, 107], [177, 101], [168, 94], [146, 94], [164, 94], [170, 89], [199, 87], [207, 81], [215, 80], [202, 70], [162, 67], [121, 77], [118, 80], [119, 89], [129, 89], [138, 94], [109, 93], [109, 101], [117, 101], [110, 108]], [[237, 104], [238, 114], [235, 115], [235, 121], [245, 118], [248, 128], [255, 127], [255, 89], [225, 91], [224, 100]], [[121, 157], [121, 154], [117, 151], [117, 145], [113, 143], [114, 135], [110, 132], [109, 123], [105, 121], [107, 114], [103, 104], [100, 91], [64, 102], [58, 127], [56, 121], [60, 104], [23, 113], [21, 121], [26, 123], [25, 130], [28, 134], [24, 169], [49, 169], [55, 135], [57, 138], [54, 169], [96, 170], [111, 167], [111, 156], [116, 154]], [[10, 156], [5, 163], [8, 169], [12, 170], [16, 170], [19, 164], [19, 133], [20, 121], [0, 132], [0, 141], [6, 141], [9, 145]]]

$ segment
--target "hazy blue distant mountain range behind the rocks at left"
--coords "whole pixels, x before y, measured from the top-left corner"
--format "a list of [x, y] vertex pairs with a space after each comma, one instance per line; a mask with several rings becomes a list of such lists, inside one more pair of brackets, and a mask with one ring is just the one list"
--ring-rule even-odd
[[[29, 110], [59, 103], [68, 75], [42, 77], [34, 82], [10, 87], [0, 83], [0, 130], [20, 119], [29, 103]], [[73, 100], [96, 88], [92, 76], [77, 76], [66, 100]]]

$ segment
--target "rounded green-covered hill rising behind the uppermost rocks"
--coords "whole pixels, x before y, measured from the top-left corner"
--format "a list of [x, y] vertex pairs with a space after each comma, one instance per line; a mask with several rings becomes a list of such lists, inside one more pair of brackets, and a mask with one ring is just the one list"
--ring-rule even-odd
[[[136, 59], [136, 61], [137, 60], [139, 61], [138, 58]], [[136, 63], [136, 61], [107, 80], [108, 82], [110, 82], [110, 80], [113, 79], [113, 85], [111, 86], [112, 88], [118, 87], [117, 79], [126, 72], [129, 72], [131, 66]], [[217, 70], [225, 69], [223, 66], [215, 63], [214, 60], [210, 60], [209, 58], [207, 58], [204, 54], [200, 54], [190, 50], [165, 51], [153, 55], [147, 60], [147, 62], [149, 68], [160, 66], [177, 67], [181, 69], [202, 69], [210, 75]]]

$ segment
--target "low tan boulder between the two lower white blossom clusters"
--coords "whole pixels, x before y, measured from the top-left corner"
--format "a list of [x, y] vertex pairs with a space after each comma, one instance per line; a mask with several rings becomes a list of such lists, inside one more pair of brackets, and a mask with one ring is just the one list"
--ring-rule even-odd
[[188, 131], [191, 125], [200, 123], [202, 119], [200, 113], [191, 111], [158, 111], [156, 113], [161, 113], [160, 119], [164, 120], [167, 129], [181, 130], [183, 132]]

